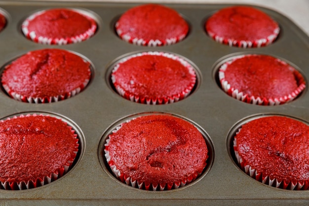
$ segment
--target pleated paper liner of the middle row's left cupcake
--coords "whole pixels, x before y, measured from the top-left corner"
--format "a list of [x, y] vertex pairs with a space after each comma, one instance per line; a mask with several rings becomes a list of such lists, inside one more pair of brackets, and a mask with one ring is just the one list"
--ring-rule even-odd
[[[89, 69], [90, 72], [90, 69]], [[91, 72], [90, 72], [91, 73]], [[90, 75], [90, 74], [89, 74]], [[76, 89], [74, 89], [71, 92], [67, 92], [62, 95], [54, 96], [54, 97], [28, 97], [21, 94], [17, 94], [13, 90], [11, 90], [6, 84], [2, 84], [3, 89], [6, 91], [6, 93], [13, 98], [14, 100], [25, 102], [25, 103], [52, 103], [52, 102], [59, 102], [62, 100], [69, 99], [71, 97], [74, 97], [78, 93], [80, 93], [84, 88], [87, 86], [90, 79], [86, 79], [81, 85], [79, 85]]]

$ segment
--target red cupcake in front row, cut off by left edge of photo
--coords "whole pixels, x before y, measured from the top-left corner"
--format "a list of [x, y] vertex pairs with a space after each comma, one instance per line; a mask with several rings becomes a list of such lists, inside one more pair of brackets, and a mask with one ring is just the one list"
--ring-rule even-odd
[[0, 181], [3, 189], [30, 189], [63, 176], [78, 151], [75, 131], [46, 115], [0, 121]]

